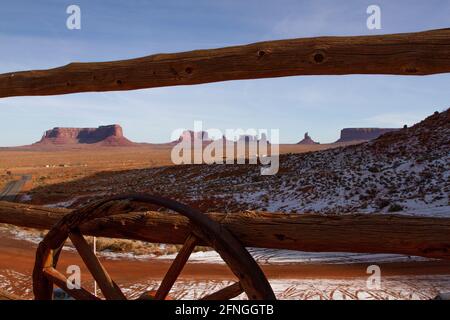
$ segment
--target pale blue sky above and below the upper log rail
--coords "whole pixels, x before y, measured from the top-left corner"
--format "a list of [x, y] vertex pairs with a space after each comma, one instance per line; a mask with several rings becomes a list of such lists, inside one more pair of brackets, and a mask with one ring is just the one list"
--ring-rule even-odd
[[[68, 30], [66, 8], [81, 8]], [[381, 30], [366, 8], [381, 7]], [[161, 52], [319, 36], [413, 32], [450, 26], [450, 1], [6, 1], [0, 6], [0, 72]], [[0, 146], [34, 142], [55, 126], [119, 123], [139, 142], [177, 128], [279, 128], [323, 143], [343, 127], [413, 124], [450, 105], [450, 75], [309, 76], [149, 90], [0, 99]]]

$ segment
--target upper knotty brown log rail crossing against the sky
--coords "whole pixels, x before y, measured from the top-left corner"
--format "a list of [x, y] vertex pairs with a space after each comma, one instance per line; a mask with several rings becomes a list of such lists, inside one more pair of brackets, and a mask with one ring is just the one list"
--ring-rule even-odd
[[119, 91], [297, 75], [450, 72], [450, 29], [318, 37], [0, 75], [0, 97]]

